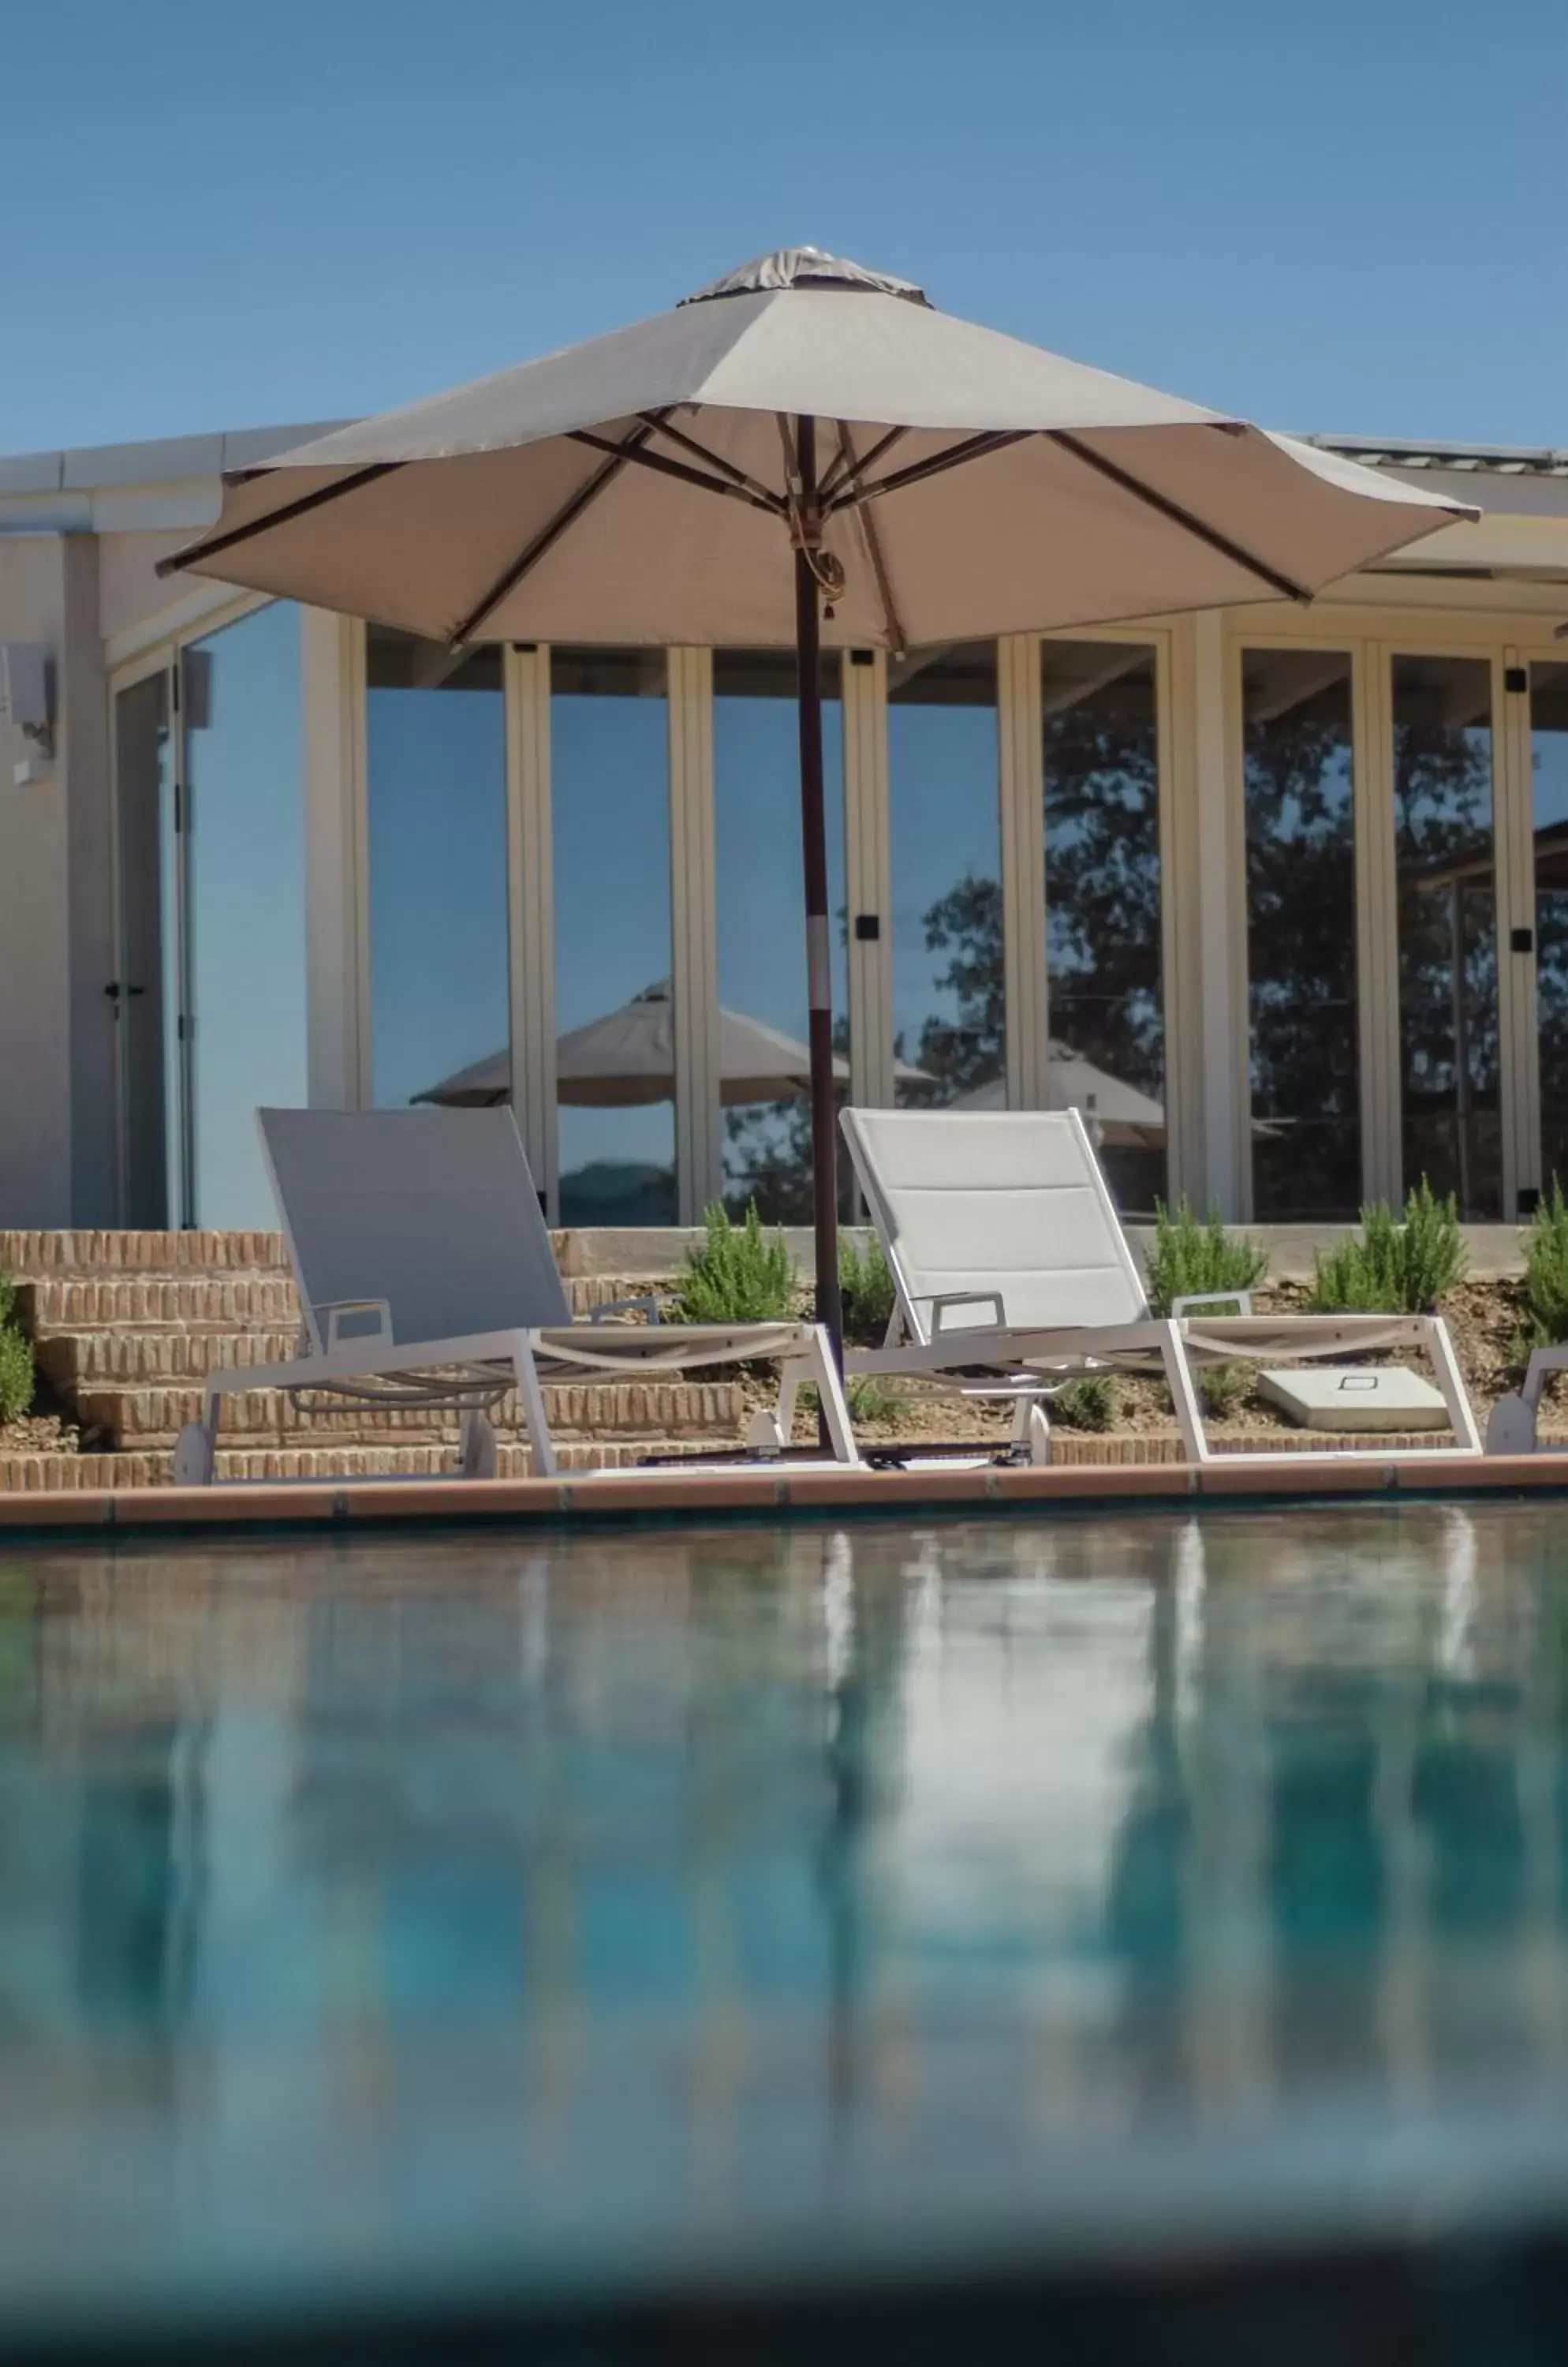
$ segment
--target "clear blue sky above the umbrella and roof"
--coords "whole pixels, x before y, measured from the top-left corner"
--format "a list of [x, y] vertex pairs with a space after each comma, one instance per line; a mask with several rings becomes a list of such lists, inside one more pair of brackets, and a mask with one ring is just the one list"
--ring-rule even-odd
[[0, 450], [381, 409], [814, 239], [1270, 426], [1568, 445], [1561, 0], [0, 0]]

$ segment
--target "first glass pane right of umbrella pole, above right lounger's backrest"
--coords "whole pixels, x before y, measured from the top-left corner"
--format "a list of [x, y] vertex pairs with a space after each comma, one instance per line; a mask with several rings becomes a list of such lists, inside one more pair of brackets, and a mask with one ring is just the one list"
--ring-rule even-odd
[[996, 644], [887, 670], [899, 1103], [1005, 1101]]

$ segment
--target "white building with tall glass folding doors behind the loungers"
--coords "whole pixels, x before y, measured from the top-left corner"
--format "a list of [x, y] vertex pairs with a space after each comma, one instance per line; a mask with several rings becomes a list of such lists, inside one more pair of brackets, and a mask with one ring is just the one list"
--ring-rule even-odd
[[[733, 1103], [714, 1025], [806, 1034], [792, 658], [452, 660], [156, 580], [312, 433], [0, 459], [50, 701], [0, 720], [0, 1226], [267, 1224], [258, 1101], [490, 1056], [553, 1221], [802, 1212], [797, 1105]], [[1324, 440], [1483, 523], [1305, 611], [830, 660], [854, 1098], [1100, 1070], [1130, 1210], [1568, 1179], [1568, 452]], [[665, 980], [667, 1072], [575, 1082], [561, 1041]]]

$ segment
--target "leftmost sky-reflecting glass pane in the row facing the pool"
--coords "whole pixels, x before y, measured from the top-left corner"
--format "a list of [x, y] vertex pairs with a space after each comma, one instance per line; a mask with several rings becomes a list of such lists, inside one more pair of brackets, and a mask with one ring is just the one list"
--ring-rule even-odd
[[506, 696], [501, 651], [369, 627], [371, 1096], [501, 1103]]

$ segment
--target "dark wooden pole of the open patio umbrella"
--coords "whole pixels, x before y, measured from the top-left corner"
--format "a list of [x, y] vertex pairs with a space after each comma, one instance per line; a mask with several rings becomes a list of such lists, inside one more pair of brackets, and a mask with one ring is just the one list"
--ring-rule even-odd
[[[816, 419], [797, 424], [802, 516], [816, 511]], [[818, 585], [795, 552], [795, 658], [799, 705], [799, 836], [806, 866], [806, 999], [811, 1011], [811, 1207], [816, 1219], [816, 1321], [844, 1366], [837, 1219], [837, 1091], [832, 1084], [832, 940], [828, 935], [828, 817], [823, 810], [823, 679]], [[818, 1411], [818, 1437], [828, 1423]]]

